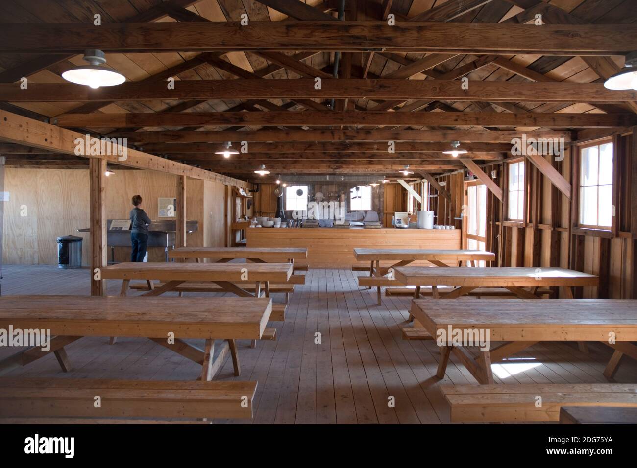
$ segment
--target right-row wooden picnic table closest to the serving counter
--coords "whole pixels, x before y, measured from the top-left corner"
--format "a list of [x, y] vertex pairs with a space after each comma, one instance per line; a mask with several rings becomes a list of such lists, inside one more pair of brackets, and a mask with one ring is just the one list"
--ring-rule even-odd
[[[453, 250], [453, 249], [395, 249], [395, 248], [355, 248], [354, 257], [356, 260], [369, 262], [369, 278], [360, 277], [359, 286], [371, 288], [376, 286], [378, 305], [381, 304], [380, 288], [382, 286], [404, 286], [394, 278], [382, 278], [390, 273], [390, 269], [404, 267], [412, 262], [427, 261], [437, 267], [448, 267], [449, 264], [461, 266], [462, 262], [466, 266], [477, 267], [480, 260], [490, 261], [496, 259], [496, 254], [483, 252], [482, 250]], [[397, 262], [391, 266], [382, 267], [380, 262]], [[354, 267], [359, 269], [359, 267]]]

